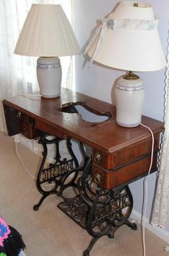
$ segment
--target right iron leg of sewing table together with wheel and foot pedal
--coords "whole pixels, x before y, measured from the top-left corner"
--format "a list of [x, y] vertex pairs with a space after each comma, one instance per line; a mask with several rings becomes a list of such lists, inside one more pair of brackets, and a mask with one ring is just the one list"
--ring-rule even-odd
[[83, 255], [89, 255], [98, 239], [104, 235], [114, 237], [122, 225], [137, 230], [135, 223], [129, 222], [133, 209], [133, 197], [129, 187], [118, 191], [105, 191], [96, 186], [91, 179], [91, 160], [86, 161], [83, 175], [78, 180], [79, 196], [61, 202], [58, 207], [93, 238]]

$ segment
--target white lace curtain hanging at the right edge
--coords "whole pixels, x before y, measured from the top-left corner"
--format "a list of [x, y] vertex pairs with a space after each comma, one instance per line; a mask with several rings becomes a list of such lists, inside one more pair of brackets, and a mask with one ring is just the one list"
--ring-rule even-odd
[[169, 38], [166, 68], [164, 127], [165, 131], [160, 155], [160, 167], [151, 218], [151, 224], [159, 226], [160, 228], [164, 228], [169, 224]]

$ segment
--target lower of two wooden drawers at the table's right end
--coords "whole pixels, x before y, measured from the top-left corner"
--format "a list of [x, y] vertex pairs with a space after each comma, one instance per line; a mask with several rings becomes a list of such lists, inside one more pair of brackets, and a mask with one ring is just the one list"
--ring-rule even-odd
[[[154, 153], [151, 171], [156, 171], [157, 152]], [[103, 189], [111, 190], [119, 185], [131, 183], [131, 181], [146, 175], [149, 171], [151, 156], [147, 156], [133, 161], [127, 165], [123, 165], [112, 171], [103, 169], [93, 163], [92, 165], [92, 180]]]

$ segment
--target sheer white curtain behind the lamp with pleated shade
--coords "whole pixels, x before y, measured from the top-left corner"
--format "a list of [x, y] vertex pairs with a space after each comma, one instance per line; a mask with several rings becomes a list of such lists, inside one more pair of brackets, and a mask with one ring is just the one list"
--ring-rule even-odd
[[[0, 101], [7, 97], [38, 91], [36, 58], [17, 56], [13, 53], [18, 35], [32, 3], [60, 4], [73, 24], [72, 0], [1, 0], [0, 1]], [[62, 86], [71, 89], [73, 60], [61, 58]], [[5, 129], [3, 108], [0, 108], [0, 129]]]

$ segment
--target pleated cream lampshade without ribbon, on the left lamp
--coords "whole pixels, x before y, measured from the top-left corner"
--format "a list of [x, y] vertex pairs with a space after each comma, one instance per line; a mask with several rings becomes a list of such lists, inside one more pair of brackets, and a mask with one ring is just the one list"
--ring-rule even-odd
[[79, 44], [61, 5], [33, 4], [20, 32], [15, 54], [52, 57], [79, 52]]

